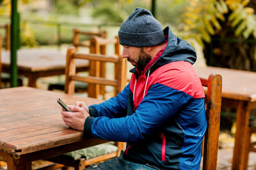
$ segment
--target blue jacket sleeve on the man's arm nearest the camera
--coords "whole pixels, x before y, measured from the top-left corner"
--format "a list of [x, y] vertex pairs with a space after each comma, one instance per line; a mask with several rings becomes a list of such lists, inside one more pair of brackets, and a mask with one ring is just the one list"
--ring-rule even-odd
[[[148, 90], [147, 96], [141, 101], [134, 114], [121, 118], [97, 117], [93, 120], [88, 119], [92, 124], [89, 126], [91, 127], [89, 132], [95, 138], [136, 142], [147, 138], [159, 126], [170, 120], [191, 98], [184, 92], [157, 83]], [[113, 106], [115, 105], [120, 104], [113, 104]], [[118, 106], [118, 108], [120, 107]], [[114, 107], [111, 109], [114, 109], [115, 113], [118, 111]], [[103, 106], [100, 106], [100, 109], [97, 108], [100, 112], [103, 110], [105, 115], [106, 111], [111, 109]]]

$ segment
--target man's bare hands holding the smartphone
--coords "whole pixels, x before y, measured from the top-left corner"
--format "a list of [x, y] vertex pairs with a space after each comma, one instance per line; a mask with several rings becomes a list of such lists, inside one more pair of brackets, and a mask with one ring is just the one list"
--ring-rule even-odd
[[61, 111], [61, 115], [63, 118], [63, 122], [69, 125], [73, 129], [77, 129], [79, 131], [84, 130], [84, 122], [87, 117], [89, 117], [89, 109], [83, 102], [76, 102], [74, 105], [68, 105], [71, 111]]

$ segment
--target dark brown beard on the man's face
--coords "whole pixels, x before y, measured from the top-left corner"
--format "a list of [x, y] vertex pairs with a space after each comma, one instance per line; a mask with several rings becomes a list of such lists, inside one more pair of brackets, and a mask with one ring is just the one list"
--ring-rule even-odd
[[140, 49], [139, 57], [136, 62], [127, 58], [129, 62], [134, 62], [136, 64], [136, 68], [140, 71], [144, 70], [144, 68], [147, 66], [148, 62], [150, 62], [151, 59], [151, 56], [143, 51], [143, 48]]

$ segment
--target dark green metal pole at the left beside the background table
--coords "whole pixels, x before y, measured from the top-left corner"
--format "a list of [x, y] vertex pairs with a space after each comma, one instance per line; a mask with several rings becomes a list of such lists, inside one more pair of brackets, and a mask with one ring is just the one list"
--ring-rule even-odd
[[19, 18], [17, 13], [17, 0], [12, 0], [12, 17], [11, 17], [11, 87], [18, 85], [18, 69], [17, 69], [17, 45], [19, 41]]

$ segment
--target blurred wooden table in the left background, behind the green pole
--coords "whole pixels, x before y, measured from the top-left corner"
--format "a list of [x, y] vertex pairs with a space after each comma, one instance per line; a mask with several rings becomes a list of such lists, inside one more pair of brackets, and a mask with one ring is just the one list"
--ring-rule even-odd
[[[3, 72], [10, 73], [10, 51], [3, 51]], [[89, 62], [76, 60], [77, 72], [87, 71]], [[28, 77], [29, 87], [36, 87], [36, 79], [65, 74], [66, 54], [47, 49], [29, 48], [17, 52], [18, 74]]]

